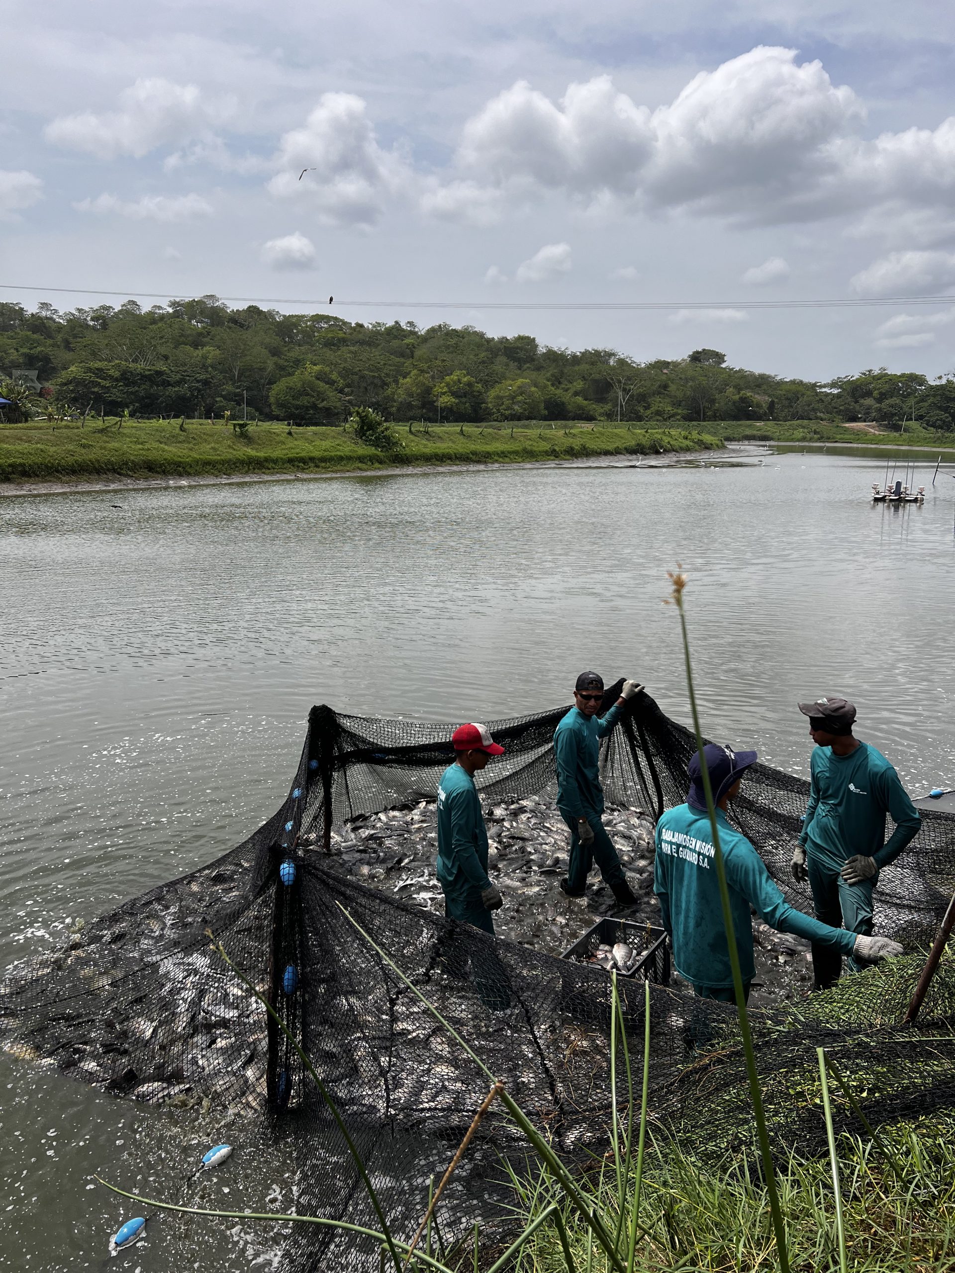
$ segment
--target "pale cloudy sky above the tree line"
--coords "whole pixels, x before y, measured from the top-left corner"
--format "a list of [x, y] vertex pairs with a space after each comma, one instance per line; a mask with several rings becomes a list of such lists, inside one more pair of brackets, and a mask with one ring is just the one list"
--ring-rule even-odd
[[[215, 293], [640, 362], [714, 346], [810, 379], [955, 370], [944, 0], [3, 0], [0, 19], [3, 299]], [[819, 299], [888, 303], [747, 308]], [[646, 302], [675, 308], [546, 308]]]

